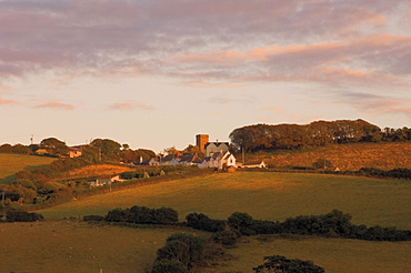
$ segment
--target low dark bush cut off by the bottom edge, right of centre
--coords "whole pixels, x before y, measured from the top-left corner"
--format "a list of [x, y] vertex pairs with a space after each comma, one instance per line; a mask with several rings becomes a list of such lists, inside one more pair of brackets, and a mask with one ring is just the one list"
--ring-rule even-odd
[[323, 267], [313, 264], [311, 261], [299, 259], [290, 260], [281, 255], [265, 256], [265, 263], [254, 267], [255, 273], [323, 273]]

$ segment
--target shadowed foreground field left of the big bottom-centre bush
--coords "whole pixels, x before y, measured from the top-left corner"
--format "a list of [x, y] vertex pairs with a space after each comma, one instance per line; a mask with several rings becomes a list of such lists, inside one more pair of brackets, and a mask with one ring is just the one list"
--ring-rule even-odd
[[138, 272], [177, 230], [99, 226], [76, 221], [0, 224], [1, 272]]

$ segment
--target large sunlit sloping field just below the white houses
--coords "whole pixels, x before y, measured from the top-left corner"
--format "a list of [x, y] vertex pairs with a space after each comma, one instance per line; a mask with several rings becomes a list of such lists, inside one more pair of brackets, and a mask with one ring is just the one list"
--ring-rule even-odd
[[169, 206], [180, 219], [202, 212], [227, 219], [247, 212], [254, 219], [284, 220], [324, 214], [333, 209], [350, 213], [355, 224], [411, 230], [411, 183], [307, 173], [237, 172], [149, 184], [108, 194], [88, 196], [40, 210], [46, 219], [106, 215], [114, 208]]

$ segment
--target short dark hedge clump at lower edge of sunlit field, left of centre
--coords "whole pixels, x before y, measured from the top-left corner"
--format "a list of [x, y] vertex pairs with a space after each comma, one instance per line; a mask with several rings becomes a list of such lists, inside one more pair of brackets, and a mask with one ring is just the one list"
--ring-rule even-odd
[[171, 224], [179, 221], [179, 214], [170, 208], [150, 209], [134, 205], [126, 210], [114, 209], [109, 211], [106, 221], [138, 224]]

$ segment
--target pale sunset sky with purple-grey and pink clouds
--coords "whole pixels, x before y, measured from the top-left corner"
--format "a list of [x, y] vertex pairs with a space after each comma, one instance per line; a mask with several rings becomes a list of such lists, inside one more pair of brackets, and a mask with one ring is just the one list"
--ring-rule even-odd
[[411, 127], [410, 0], [0, 0], [0, 144]]

